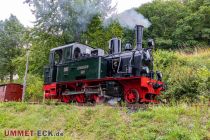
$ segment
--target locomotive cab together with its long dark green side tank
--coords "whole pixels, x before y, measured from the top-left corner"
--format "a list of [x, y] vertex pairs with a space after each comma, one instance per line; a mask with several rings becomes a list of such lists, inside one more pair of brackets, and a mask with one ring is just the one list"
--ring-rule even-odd
[[45, 83], [104, 77], [106, 62], [103, 56], [104, 50], [79, 43], [51, 49], [50, 65], [44, 70]]

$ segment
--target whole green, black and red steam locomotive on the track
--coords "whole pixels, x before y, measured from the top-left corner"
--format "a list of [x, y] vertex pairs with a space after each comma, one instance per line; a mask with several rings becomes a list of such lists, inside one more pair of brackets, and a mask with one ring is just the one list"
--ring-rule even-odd
[[109, 41], [109, 54], [77, 42], [51, 49], [44, 68], [45, 98], [66, 103], [113, 98], [128, 104], [157, 103], [164, 83], [161, 72], [153, 71], [153, 40], [142, 48], [143, 28], [135, 27], [134, 49], [127, 43], [122, 51], [118, 38]]

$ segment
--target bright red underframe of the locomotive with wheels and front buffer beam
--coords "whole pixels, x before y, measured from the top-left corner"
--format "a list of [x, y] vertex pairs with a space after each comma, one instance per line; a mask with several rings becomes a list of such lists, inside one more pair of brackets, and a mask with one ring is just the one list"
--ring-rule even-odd
[[[73, 82], [59, 82], [44, 85], [46, 99], [61, 99], [63, 102], [75, 101], [85, 103], [87, 101], [97, 102], [99, 95], [104, 96], [103, 92], [88, 93], [86, 87], [100, 87], [104, 82], [115, 81], [122, 87], [122, 100], [129, 104], [134, 103], [158, 103], [156, 97], [164, 90], [164, 83], [143, 76], [113, 78], [107, 77], [97, 80], [76, 80]], [[61, 88], [62, 87], [62, 88]], [[68, 92], [65, 90], [66, 87]], [[114, 95], [113, 95], [114, 97]]]

